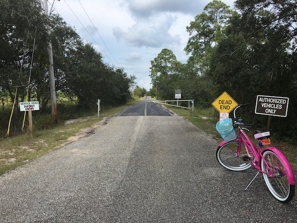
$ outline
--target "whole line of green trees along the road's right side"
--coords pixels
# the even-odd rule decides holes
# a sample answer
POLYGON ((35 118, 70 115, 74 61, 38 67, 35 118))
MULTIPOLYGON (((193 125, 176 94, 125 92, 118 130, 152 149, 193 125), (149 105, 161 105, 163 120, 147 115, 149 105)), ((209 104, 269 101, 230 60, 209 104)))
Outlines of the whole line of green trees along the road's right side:
POLYGON ((183 98, 209 108, 224 91, 239 104, 250 103, 245 115, 259 125, 266 115, 254 115, 257 95, 289 97, 286 118, 273 117, 280 137, 297 138, 297 2, 296 0, 236 0, 235 9, 222 1, 208 3, 187 26, 189 54, 182 64, 169 49, 151 61, 152 89, 157 97, 183 98))

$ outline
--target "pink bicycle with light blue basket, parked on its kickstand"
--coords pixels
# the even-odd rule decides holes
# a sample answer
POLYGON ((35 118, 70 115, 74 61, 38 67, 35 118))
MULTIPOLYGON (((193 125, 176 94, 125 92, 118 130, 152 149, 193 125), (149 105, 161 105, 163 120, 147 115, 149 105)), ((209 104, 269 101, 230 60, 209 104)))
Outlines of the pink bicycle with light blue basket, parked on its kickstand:
MULTIPOLYGON (((248 104, 239 105, 234 109, 234 120, 226 118, 217 123, 217 130, 220 132, 224 141, 220 143, 216 158, 218 162, 225 168, 242 171, 249 167, 258 170, 255 177, 248 186, 261 172, 264 181, 271 194, 279 201, 287 203, 291 201, 295 193, 295 175, 288 160, 275 147, 266 147, 270 144, 270 132, 256 131, 254 138, 258 140, 258 148, 250 141, 244 126, 252 126, 244 123, 242 119, 236 118, 236 110, 245 107, 248 104), (238 128, 238 136, 236 136, 235 128, 238 128)), ((247 188, 245 190, 247 190, 247 188)))

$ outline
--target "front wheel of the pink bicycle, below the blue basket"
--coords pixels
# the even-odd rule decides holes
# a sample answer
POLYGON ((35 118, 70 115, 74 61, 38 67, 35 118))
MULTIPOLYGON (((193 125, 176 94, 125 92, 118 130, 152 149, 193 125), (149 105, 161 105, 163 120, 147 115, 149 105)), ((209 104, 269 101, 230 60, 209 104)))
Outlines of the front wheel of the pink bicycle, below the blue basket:
POLYGON ((233 171, 242 171, 251 167, 251 158, 247 155, 244 143, 241 143, 239 155, 236 156, 238 148, 239 141, 230 141, 222 146, 219 146, 216 151, 216 158, 218 162, 223 167, 233 171))

